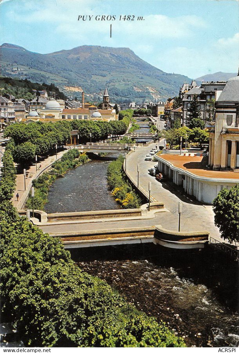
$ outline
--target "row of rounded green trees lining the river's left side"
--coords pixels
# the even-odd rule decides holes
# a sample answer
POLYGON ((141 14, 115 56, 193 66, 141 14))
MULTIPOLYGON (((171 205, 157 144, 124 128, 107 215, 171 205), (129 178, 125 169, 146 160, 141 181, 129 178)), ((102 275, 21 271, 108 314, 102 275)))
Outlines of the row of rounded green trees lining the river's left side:
POLYGON ((120 121, 61 120, 55 123, 40 121, 31 124, 16 123, 6 127, 4 136, 10 137, 7 150, 10 150, 14 161, 27 165, 34 161, 35 155, 46 156, 55 145, 64 145, 70 138, 71 130, 78 130, 80 143, 107 139, 108 136, 119 136, 126 132, 129 123, 129 112, 120 121), (90 137, 91 134, 91 137, 90 137))

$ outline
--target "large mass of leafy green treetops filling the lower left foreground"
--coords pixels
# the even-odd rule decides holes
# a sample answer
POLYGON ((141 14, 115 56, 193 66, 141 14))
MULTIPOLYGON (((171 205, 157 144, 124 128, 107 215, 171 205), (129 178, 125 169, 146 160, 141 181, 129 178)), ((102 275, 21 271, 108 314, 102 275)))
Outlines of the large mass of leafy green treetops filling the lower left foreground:
POLYGON ((165 323, 84 273, 59 238, 20 217, 11 202, 2 203, 0 226, 2 316, 25 345, 184 347, 165 323))

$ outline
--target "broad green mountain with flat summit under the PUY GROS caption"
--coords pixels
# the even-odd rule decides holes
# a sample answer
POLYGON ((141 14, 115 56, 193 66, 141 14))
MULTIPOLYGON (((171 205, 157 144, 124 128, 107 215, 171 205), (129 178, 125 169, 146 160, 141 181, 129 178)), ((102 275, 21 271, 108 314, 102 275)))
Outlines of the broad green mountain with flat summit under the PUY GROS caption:
POLYGON ((165 100, 178 95, 190 78, 166 73, 139 58, 129 48, 80 46, 49 54, 23 47, 0 46, 2 76, 53 83, 67 95, 101 100, 107 86, 111 101, 165 100), (121 99, 122 98, 122 99, 121 99))

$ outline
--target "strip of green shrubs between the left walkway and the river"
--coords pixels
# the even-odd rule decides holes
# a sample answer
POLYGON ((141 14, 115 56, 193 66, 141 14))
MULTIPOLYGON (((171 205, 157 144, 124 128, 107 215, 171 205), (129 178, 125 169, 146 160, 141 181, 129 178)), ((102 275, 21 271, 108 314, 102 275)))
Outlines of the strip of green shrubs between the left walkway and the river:
MULTIPOLYGON (((35 188, 35 209, 44 209, 44 204, 48 201, 49 187, 56 178, 62 177, 67 170, 74 169, 88 161, 89 158, 85 153, 80 153, 77 149, 69 150, 61 157, 60 161, 56 161, 52 164, 52 168, 49 172, 43 173, 39 178, 33 180, 32 185, 35 188)), ((26 208, 32 208, 32 198, 30 196, 26 201, 26 208)))

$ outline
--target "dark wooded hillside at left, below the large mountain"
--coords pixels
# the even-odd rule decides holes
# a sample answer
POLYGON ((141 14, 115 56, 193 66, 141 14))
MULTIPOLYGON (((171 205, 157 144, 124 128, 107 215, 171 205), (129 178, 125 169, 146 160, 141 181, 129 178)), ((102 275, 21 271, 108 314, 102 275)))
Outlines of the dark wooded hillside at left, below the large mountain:
POLYGON ((10 77, 0 77, 0 95, 12 94, 16 99, 25 98, 31 100, 34 98, 32 90, 43 91, 46 90, 48 95, 50 92, 54 92, 55 96, 60 99, 65 99, 66 96, 62 93, 58 87, 53 83, 33 83, 28 79, 19 80, 10 77))

